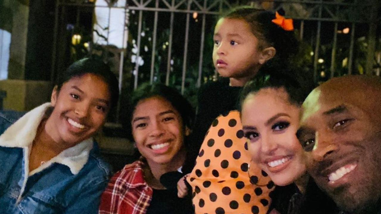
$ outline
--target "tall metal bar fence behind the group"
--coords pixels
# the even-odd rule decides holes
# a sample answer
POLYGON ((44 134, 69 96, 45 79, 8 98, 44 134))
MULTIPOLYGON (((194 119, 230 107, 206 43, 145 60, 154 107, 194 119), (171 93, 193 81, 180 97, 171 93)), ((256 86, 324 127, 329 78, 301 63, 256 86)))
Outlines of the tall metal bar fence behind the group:
POLYGON ((197 89, 213 78, 213 25, 219 14, 238 4, 273 11, 283 8, 286 16, 294 19, 301 40, 311 49, 307 54, 315 81, 344 73, 379 75, 377 0, 103 0, 103 5, 100 1, 56 1, 52 81, 57 71, 70 62, 68 51, 86 55, 110 46, 110 34, 118 31, 110 30, 110 24, 115 22, 111 17, 116 13, 112 11, 118 9, 124 14, 119 29, 122 45, 112 48, 116 50, 120 89, 129 80, 130 88, 143 81, 160 81, 189 95, 187 90, 197 89), (93 28, 97 8, 109 10, 108 26, 102 27, 106 35, 99 35, 104 40, 102 45, 94 42, 94 35, 98 37, 99 33, 93 28))

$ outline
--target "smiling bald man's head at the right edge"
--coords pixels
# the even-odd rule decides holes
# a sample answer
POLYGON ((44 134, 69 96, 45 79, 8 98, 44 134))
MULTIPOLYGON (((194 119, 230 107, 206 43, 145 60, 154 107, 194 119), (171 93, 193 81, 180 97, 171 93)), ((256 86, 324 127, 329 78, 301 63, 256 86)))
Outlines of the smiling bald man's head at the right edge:
POLYGON ((381 213, 381 79, 333 78, 303 103, 307 170, 349 213, 381 213))

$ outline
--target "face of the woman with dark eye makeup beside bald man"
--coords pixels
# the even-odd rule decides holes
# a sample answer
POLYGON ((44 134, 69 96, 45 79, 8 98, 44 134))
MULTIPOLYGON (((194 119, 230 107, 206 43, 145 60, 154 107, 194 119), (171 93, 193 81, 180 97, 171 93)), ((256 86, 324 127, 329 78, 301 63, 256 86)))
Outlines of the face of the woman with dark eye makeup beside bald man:
POLYGON ((306 171, 296 138, 299 107, 287 92, 266 88, 249 94, 242 105, 242 125, 252 159, 276 185, 288 185, 306 171))

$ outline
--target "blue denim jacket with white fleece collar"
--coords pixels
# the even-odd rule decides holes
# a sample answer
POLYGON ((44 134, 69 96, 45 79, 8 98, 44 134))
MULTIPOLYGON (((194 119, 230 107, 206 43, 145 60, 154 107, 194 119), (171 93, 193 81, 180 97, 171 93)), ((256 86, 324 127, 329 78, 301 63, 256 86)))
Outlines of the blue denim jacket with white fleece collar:
POLYGON ((0 213, 97 213, 109 167, 93 139, 62 151, 29 172, 29 152, 50 104, 26 113, 0 113, 0 213), (17 121, 16 121, 17 120, 17 121))

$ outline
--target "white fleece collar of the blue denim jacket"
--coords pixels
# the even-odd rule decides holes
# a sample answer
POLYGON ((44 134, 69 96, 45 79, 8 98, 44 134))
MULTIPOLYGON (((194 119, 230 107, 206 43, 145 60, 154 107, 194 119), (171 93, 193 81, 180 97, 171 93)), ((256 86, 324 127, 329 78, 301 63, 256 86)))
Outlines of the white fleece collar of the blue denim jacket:
MULTIPOLYGON (((18 121, 13 123, 0 136, 0 146, 29 150, 28 148, 32 145, 32 142, 36 136, 38 125, 40 125, 40 122, 49 107, 51 107, 50 103, 40 105, 30 112, 27 112, 18 121)), ((92 148, 93 139, 86 139, 85 141, 62 151, 56 157, 43 164, 42 167, 45 165, 43 168, 46 168, 52 163, 60 163, 68 166, 72 174, 78 174, 78 172, 87 163, 92 148)), ((40 170, 42 169, 39 167, 34 171, 37 172, 40 170)), ((30 173, 34 174, 34 171, 30 173)))

